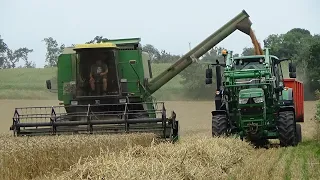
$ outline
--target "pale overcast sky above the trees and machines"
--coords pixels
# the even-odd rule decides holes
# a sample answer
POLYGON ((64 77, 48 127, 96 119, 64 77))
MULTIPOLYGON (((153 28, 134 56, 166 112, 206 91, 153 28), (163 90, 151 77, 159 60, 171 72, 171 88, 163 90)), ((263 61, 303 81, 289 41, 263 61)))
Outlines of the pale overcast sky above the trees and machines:
MULTIPOLYGON (((43 67, 45 37, 66 45, 96 35, 140 37, 142 44, 185 54, 189 42, 196 46, 243 9, 261 45, 269 34, 295 27, 320 34, 319 8, 319 0, 0 0, 0 35, 11 49, 33 49, 30 60, 43 67)), ((241 53, 251 40, 237 31, 218 46, 241 53)))

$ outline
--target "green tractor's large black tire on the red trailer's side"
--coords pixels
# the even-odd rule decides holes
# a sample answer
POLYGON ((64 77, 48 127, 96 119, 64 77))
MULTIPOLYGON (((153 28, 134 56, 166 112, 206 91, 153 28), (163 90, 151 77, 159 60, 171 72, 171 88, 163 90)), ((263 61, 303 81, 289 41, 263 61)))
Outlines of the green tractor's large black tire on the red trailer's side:
POLYGON ((292 111, 279 113, 277 128, 281 147, 296 146, 296 122, 292 111))

